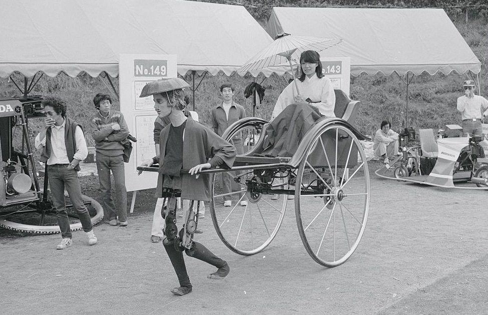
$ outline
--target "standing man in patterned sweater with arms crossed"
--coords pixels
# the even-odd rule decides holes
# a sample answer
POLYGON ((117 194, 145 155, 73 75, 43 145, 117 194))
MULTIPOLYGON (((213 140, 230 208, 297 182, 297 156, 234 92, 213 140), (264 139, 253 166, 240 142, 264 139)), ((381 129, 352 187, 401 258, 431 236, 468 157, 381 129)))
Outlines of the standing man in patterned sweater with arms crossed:
POLYGON ((102 190, 104 217, 112 226, 127 226, 127 189, 125 186, 124 146, 121 141, 129 128, 121 112, 111 110, 112 99, 99 93, 93 98, 98 114, 92 118, 92 135, 97 152, 97 171, 102 190), (117 208, 111 194, 110 170, 114 174, 117 208), (118 217, 118 218, 117 218, 118 217))

